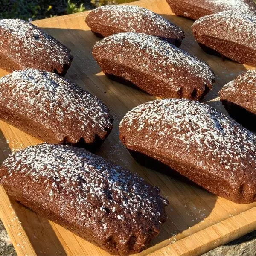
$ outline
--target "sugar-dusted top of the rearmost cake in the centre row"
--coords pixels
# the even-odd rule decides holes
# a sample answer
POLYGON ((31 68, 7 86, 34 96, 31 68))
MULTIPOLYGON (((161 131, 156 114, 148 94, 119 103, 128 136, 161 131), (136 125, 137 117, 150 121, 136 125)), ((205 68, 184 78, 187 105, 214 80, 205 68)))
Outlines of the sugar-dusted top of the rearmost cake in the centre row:
POLYGON ((98 20, 104 20, 109 26, 118 26, 123 32, 136 32, 140 30, 145 34, 171 32, 179 37, 184 36, 183 31, 175 24, 150 10, 134 5, 100 6, 92 11, 98 20))

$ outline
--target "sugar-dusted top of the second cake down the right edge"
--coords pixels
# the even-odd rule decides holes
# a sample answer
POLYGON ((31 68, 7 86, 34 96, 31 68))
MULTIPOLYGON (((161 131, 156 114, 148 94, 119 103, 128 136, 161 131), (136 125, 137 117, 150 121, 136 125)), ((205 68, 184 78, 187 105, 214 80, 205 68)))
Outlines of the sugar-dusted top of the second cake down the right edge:
POLYGON ((225 11, 207 15, 196 20, 192 28, 200 35, 198 26, 204 27, 207 22, 207 29, 202 29, 205 35, 242 44, 256 49, 256 16, 249 13, 225 11), (220 29, 221 28, 221 29, 220 29))

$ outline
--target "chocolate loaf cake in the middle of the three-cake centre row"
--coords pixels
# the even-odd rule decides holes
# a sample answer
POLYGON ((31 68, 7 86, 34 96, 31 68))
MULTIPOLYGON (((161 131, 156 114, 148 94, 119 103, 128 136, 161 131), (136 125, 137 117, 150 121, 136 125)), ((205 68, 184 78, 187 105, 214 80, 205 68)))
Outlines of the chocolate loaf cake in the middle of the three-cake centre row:
POLYGON ((215 81, 204 61, 143 33, 104 38, 93 47, 93 56, 106 75, 154 96, 201 99, 215 81))

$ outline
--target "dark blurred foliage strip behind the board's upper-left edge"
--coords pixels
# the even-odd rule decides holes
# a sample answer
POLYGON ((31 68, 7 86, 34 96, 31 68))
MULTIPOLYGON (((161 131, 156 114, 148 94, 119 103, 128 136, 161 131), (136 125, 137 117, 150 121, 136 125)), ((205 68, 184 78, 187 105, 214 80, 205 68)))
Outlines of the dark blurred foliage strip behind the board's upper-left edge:
POLYGON ((0 0, 0 18, 38 20, 134 0, 0 0))

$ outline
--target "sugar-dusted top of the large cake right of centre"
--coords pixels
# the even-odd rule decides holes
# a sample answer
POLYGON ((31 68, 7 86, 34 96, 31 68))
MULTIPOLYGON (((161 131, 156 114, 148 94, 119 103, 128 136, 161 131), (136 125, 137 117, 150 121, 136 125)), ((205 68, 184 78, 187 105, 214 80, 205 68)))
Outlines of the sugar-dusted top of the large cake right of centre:
POLYGON ((234 186, 243 172, 255 177, 256 136, 204 103, 186 99, 147 102, 125 115, 120 132, 123 129, 129 134, 125 137, 128 148, 139 140, 145 150, 156 148, 156 154, 189 161, 195 168, 231 180, 234 186))

